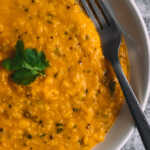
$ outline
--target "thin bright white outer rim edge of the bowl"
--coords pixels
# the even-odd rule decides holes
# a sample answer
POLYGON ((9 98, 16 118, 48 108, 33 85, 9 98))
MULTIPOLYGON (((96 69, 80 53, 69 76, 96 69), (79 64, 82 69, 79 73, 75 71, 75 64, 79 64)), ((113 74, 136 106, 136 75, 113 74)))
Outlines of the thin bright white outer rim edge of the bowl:
MULTIPOLYGON (((141 26, 141 33, 143 34, 143 38, 145 40, 145 46, 147 49, 147 54, 148 54, 148 63, 150 64, 150 39, 149 39, 149 34, 146 28, 146 24, 144 22, 144 19, 142 17, 142 14, 139 10, 139 8, 137 7, 135 1, 133 0, 127 0, 127 4, 128 7, 131 8, 133 10, 134 15, 136 16, 136 18, 139 21, 139 25, 141 26)), ((144 111, 146 108, 146 105, 148 103, 148 99, 150 97, 150 67, 147 68, 148 70, 148 81, 147 81, 147 87, 146 87, 146 91, 145 91, 145 96, 143 98, 143 103, 141 104, 142 110, 144 111)), ((118 145, 116 150, 120 150, 125 144, 126 142, 129 140, 129 138, 131 137, 133 131, 135 129, 135 126, 133 126, 129 131, 127 136, 124 138, 124 140, 122 142, 120 142, 120 144, 118 145)))

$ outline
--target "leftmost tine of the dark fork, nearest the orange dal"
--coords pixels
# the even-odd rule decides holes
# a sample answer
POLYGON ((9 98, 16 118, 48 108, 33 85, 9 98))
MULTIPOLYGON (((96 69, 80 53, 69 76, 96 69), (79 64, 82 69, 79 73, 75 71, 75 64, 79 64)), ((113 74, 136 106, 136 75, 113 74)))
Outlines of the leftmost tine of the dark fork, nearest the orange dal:
POLYGON ((91 8, 89 7, 89 4, 86 0, 80 0, 82 7, 84 8, 85 12, 88 14, 89 17, 91 17, 91 19, 93 20, 93 22, 95 23, 95 26, 97 28, 100 27, 99 23, 97 22, 97 19, 95 18, 94 13, 92 12, 91 8))

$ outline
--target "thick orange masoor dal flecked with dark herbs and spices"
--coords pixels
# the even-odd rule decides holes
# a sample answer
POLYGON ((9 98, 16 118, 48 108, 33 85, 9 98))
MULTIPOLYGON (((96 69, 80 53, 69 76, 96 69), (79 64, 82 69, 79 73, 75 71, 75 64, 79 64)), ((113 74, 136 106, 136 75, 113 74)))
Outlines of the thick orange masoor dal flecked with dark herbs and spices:
MULTIPOLYGON (((18 39, 43 50, 50 67, 28 86, 0 67, 0 150, 90 150, 102 142, 124 98, 79 4, 0 0, 0 61, 18 39)), ((119 55, 128 76, 124 42, 119 55)))

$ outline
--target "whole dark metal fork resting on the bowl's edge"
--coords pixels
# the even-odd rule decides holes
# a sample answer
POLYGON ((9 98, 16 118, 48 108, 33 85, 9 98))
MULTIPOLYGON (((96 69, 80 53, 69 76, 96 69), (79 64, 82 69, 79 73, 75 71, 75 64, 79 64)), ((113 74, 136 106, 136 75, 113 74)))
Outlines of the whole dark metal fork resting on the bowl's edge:
POLYGON ((118 52, 122 32, 106 7, 104 0, 80 0, 80 3, 93 20, 101 36, 103 55, 112 64, 145 149, 150 150, 150 125, 119 62, 118 52))

